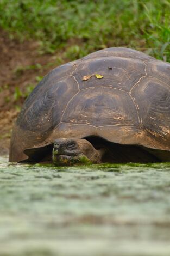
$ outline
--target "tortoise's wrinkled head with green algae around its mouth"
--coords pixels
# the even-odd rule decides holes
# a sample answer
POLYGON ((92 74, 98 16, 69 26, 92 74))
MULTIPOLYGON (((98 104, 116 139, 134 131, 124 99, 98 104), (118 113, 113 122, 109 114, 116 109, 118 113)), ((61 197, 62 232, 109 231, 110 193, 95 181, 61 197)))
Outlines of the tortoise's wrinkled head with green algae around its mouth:
POLYGON ((98 151, 86 139, 55 139, 53 162, 56 165, 96 162, 98 151))

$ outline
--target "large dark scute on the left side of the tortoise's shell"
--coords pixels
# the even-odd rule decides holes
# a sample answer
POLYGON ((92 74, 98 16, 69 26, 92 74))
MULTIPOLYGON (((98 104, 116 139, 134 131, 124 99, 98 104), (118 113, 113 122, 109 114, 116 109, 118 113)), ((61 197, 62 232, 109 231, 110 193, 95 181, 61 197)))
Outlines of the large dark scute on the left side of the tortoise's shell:
POLYGON ((77 83, 69 76, 64 81, 46 87, 36 101, 20 115, 17 124, 23 130, 43 133, 60 123, 67 102, 78 92, 77 83), (33 118, 34 117, 34 118, 33 118))

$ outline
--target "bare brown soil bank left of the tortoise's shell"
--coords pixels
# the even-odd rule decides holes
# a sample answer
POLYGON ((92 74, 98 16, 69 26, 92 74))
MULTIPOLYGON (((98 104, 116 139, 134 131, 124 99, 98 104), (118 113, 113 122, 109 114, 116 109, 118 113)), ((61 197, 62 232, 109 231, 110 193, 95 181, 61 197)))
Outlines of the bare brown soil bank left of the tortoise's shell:
POLYGON ((9 39, 0 30, 0 155, 9 152, 12 125, 25 100, 22 95, 16 99, 15 88, 22 94, 29 84, 37 84, 36 76, 44 76, 54 68, 61 54, 40 55, 38 49, 37 42, 9 39))

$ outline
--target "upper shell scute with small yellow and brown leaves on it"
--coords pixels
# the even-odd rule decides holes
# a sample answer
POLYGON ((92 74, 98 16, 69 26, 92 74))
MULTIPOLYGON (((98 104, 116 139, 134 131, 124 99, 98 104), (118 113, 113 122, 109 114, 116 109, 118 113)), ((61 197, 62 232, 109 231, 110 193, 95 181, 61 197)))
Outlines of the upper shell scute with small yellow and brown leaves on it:
POLYGON ((133 85, 146 76, 145 64, 141 60, 122 57, 100 57, 85 60, 73 72, 79 83, 79 88, 108 87, 118 88, 129 92, 133 85), (110 68, 110 69, 109 69, 110 68), (97 79, 95 74, 103 76, 97 79), (87 81, 82 81, 83 77, 91 75, 87 81))

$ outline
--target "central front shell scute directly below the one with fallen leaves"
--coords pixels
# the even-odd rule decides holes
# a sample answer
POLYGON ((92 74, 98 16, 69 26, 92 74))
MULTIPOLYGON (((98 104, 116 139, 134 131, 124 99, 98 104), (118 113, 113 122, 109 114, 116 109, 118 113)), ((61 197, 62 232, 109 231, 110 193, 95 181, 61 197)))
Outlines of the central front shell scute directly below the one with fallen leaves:
POLYGON ((112 88, 81 90, 68 104, 64 123, 92 126, 139 126, 138 115, 130 96, 112 88))

